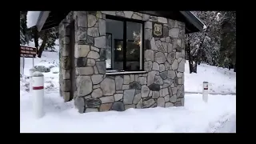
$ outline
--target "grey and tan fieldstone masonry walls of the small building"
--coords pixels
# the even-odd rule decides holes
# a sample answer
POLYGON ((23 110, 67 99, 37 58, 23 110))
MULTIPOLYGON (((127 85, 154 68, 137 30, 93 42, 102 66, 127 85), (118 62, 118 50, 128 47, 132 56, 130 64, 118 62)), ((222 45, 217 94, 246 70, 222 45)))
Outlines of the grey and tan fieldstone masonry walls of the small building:
POLYGON ((75 30, 76 90, 79 113, 184 106, 185 24, 133 11, 72 11, 59 25, 60 93, 70 98, 70 22, 75 30), (106 74, 106 14, 144 23, 145 74, 106 74), (163 38, 152 36, 163 23, 163 38))

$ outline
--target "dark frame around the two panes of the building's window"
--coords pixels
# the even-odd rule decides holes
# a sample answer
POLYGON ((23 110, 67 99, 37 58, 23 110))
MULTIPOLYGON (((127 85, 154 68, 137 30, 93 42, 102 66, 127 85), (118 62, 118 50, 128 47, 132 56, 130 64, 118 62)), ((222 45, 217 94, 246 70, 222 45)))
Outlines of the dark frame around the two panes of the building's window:
MULTIPOLYGON (((116 21, 121 21, 123 23, 123 40, 126 39, 127 41, 127 36, 126 36, 126 22, 135 22, 135 23, 140 23, 142 24, 142 70, 127 70, 127 66, 126 66, 126 41, 123 41, 123 70, 122 71, 144 71, 144 32, 145 32, 145 22, 142 20, 138 20, 138 19, 130 19, 130 18, 122 18, 122 17, 118 17, 118 16, 112 16, 112 15, 107 15, 106 14, 106 19, 112 19, 112 20, 116 20, 116 21)), ((113 43, 112 43, 113 45, 113 43)), ((111 48, 112 49, 112 48, 111 48)), ((112 54, 111 54, 112 57, 112 54)), ((140 60, 139 60, 140 63, 140 60)), ((113 65, 112 65, 112 58, 111 58, 111 68, 108 68, 106 70, 114 70, 113 69, 113 65)))

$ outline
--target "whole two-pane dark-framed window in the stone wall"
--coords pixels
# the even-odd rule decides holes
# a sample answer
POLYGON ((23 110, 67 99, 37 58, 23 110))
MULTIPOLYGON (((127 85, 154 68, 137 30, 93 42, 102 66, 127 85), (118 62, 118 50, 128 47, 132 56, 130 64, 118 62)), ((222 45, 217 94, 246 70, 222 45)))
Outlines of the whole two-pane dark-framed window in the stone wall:
POLYGON ((106 69, 143 70, 143 22, 106 16, 106 69))

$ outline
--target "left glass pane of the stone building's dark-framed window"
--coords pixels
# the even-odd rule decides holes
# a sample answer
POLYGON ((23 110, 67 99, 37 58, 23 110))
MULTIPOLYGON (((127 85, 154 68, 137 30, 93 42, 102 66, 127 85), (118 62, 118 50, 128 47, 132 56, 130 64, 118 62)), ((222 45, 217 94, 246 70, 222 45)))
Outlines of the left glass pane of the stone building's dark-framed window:
POLYGON ((106 38, 106 68, 123 70, 122 55, 119 55, 122 54, 123 49, 123 22, 106 19, 106 35, 108 36, 106 38), (117 55, 118 58, 116 58, 117 55))

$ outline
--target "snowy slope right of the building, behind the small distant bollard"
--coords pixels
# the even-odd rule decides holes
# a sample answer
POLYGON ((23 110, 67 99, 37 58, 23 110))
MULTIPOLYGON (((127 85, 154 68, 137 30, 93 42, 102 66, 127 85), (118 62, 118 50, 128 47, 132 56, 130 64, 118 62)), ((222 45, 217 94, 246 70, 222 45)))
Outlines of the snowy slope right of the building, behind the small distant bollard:
POLYGON ((201 92, 202 82, 209 82, 211 93, 235 93, 236 73, 234 70, 221 67, 201 64, 198 66, 198 73, 190 74, 189 62, 185 64, 185 91, 201 92))

